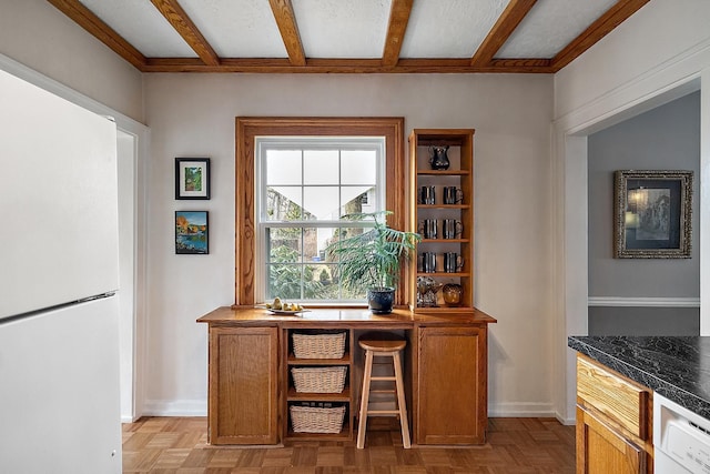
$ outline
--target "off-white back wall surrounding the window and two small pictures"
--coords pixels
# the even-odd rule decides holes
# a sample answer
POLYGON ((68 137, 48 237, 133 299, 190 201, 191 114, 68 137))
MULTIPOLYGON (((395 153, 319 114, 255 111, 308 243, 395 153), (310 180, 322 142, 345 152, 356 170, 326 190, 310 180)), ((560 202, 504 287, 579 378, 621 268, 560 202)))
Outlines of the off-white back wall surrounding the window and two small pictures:
POLYGON ((234 302, 234 118, 404 117, 475 128, 476 304, 490 326, 491 415, 550 414, 552 79, 515 74, 150 74, 146 410, 204 414, 206 327, 234 302), (174 158, 212 159, 212 200, 174 200, 174 158), (175 255, 175 210, 210 211, 210 254, 175 255))

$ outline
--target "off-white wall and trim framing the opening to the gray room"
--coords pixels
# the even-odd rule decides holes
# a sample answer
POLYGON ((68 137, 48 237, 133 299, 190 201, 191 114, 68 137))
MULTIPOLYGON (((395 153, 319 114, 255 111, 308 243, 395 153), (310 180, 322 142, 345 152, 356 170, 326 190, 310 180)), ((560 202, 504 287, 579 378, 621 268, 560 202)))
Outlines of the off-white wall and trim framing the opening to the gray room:
MULTIPOLYGON (((710 83, 710 2, 655 0, 555 77, 555 395, 560 417, 574 421, 574 352, 567 336, 587 327, 586 137, 710 83)), ((710 101, 701 99, 701 334, 710 333, 710 101), (704 330, 703 330, 704 325, 704 330)), ((693 210, 696 212, 696 210, 693 210)), ((610 236, 611 238, 611 236, 610 236)))

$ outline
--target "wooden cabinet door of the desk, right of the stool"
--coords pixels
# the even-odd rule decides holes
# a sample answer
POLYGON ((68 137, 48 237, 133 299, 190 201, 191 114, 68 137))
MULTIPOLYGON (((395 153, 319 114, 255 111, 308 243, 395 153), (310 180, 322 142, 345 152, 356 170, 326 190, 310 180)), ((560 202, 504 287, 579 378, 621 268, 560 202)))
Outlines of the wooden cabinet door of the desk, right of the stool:
POLYGON ((485 325, 418 327, 415 443, 486 442, 486 339, 485 325))

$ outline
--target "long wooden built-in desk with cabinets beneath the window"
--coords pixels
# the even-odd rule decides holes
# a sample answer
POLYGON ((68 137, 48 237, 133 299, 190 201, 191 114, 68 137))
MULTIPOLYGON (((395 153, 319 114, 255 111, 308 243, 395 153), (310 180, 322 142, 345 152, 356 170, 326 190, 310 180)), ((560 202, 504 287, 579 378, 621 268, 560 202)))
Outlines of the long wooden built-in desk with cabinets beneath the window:
POLYGON ((395 310, 317 309, 301 316, 272 315, 254 307, 219 307, 197 320, 209 325, 209 442, 280 444, 295 440, 353 440, 361 389, 357 337, 393 331, 407 339, 405 383, 413 444, 483 444, 487 425, 488 324, 473 310, 422 314, 395 310), (344 332, 337 360, 295 359, 294 332, 344 332), (293 366, 347 366, 339 394, 303 394, 293 389, 293 366), (339 433, 291 430, 290 406, 305 401, 344 405, 339 433))

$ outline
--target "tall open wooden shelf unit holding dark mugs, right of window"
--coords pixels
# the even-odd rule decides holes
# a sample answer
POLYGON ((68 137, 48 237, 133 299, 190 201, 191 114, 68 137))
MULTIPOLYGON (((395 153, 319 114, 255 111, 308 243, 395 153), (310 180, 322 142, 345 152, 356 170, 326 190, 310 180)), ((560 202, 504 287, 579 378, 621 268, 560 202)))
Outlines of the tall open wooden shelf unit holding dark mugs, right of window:
POLYGON ((410 272, 412 304, 415 311, 470 311, 474 305, 474 130, 415 129, 409 135, 409 160, 410 222, 423 236, 416 252, 417 271, 410 272), (436 147, 446 149, 447 169, 433 169, 430 155, 436 147), (432 190, 434 199, 427 200, 425 194, 430 195, 432 190), (447 193, 452 199, 445 199, 447 193), (425 232, 432 228, 435 232, 425 232), (427 262, 432 254, 434 268, 427 262), (434 279, 439 284, 460 284, 460 301, 447 304, 442 291, 432 301, 430 294, 417 291, 419 276, 434 279))

